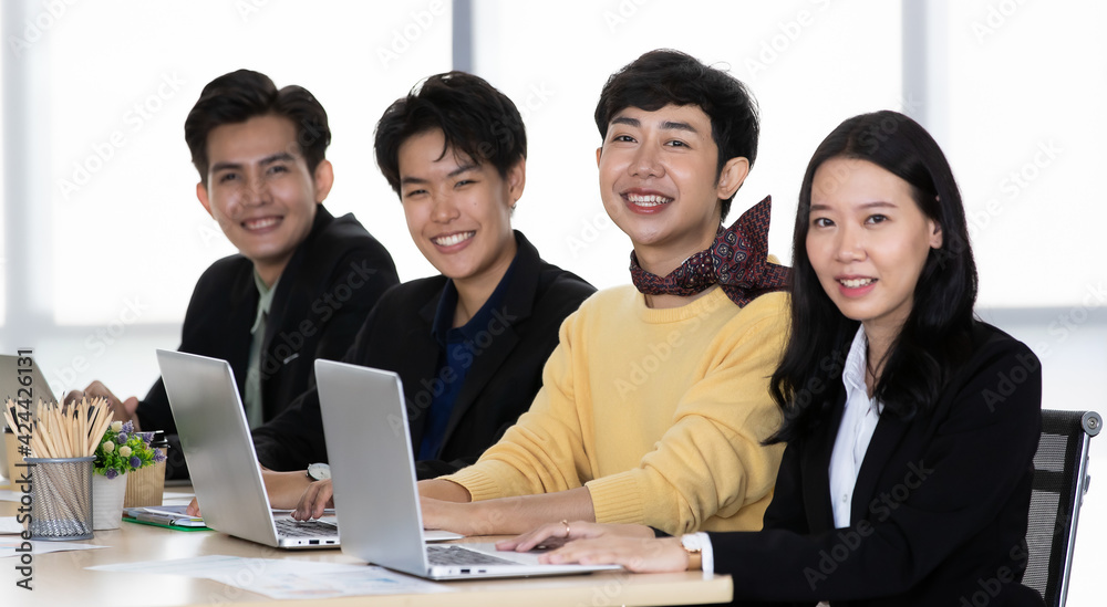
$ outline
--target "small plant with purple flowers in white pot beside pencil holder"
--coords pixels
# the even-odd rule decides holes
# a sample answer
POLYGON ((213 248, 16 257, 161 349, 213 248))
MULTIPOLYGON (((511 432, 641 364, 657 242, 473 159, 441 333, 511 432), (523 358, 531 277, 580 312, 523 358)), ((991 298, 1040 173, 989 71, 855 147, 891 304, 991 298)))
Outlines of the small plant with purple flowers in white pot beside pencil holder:
POLYGON ((154 432, 135 432, 134 423, 113 421, 96 447, 92 478, 92 527, 118 528, 123 520, 123 499, 127 472, 165 460, 165 454, 149 446, 154 432))

